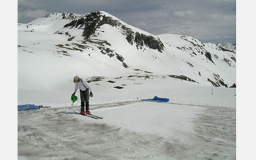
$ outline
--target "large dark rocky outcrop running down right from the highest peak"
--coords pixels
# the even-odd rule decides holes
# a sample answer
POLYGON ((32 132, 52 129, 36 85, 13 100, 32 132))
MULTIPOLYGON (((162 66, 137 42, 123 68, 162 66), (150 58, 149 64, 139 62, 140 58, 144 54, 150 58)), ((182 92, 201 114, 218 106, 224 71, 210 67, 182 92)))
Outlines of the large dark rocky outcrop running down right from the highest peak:
POLYGON ((72 20, 71 23, 64 25, 64 28, 82 28, 84 39, 89 39, 91 36, 95 36, 95 32, 102 25, 111 25, 116 28, 120 28, 121 32, 127 36, 129 44, 136 45, 137 49, 143 49, 148 47, 150 49, 157 49, 162 52, 165 48, 160 39, 156 39, 154 36, 148 36, 138 31, 132 31, 131 28, 124 25, 119 20, 113 20, 112 17, 104 15, 102 12, 91 12, 89 15, 81 17, 78 20, 72 20))

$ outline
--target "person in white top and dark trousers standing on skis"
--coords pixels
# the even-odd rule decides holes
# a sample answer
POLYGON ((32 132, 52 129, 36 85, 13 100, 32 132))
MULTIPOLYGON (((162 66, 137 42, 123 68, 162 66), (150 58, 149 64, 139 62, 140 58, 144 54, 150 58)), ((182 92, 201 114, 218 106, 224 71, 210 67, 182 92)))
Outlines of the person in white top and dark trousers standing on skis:
MULTIPOLYGON (((80 99, 81 99, 81 111, 82 114, 89 114, 91 113, 89 111, 89 97, 92 97, 93 94, 91 92, 91 87, 89 87, 89 84, 87 81, 84 81, 83 79, 79 78, 79 76, 74 76, 75 83, 75 92, 77 92, 78 88, 80 89, 80 99), (86 102, 86 111, 84 111, 84 102, 86 102)), ((75 92, 72 95, 75 95, 75 92)))

